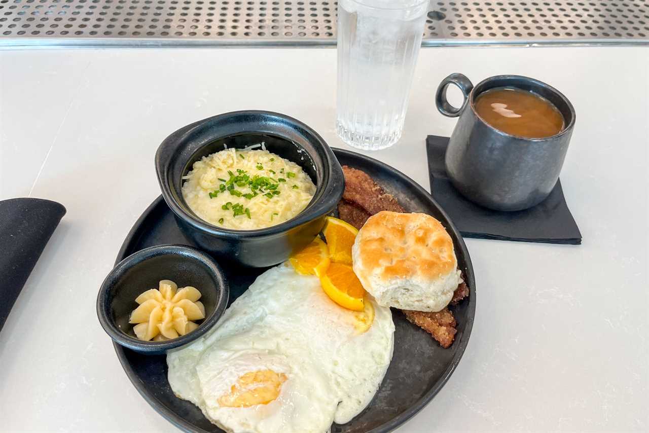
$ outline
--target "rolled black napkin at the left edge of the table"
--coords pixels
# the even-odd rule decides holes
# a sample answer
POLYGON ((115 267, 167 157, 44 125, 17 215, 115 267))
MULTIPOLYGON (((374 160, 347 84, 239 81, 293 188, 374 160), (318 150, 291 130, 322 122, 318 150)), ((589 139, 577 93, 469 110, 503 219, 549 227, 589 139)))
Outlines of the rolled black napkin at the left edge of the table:
POLYGON ((66 208, 43 199, 0 201, 0 330, 66 208))

